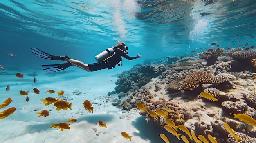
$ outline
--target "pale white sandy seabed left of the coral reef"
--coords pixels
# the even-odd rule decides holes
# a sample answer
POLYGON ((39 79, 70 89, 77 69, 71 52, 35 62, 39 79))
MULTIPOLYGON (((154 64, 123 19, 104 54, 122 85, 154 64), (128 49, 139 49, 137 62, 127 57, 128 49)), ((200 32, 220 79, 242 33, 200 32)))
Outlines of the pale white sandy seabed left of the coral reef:
MULTIPOLYGON (((0 103, 11 97, 13 102, 5 109, 16 107, 17 110, 9 117, 0 119, 1 143, 164 143, 159 134, 164 133, 170 141, 178 140, 168 134, 155 123, 146 123, 146 117, 141 117, 137 109, 130 112, 120 110, 112 106, 108 100, 117 95, 108 96, 107 93, 114 90, 117 77, 111 77, 118 70, 103 70, 88 73, 80 69, 70 68, 58 73, 47 73, 43 70, 20 69, 0 73, 0 103), (15 77, 16 73, 24 74, 24 78, 15 77), (34 77, 38 80, 33 83, 34 77), (110 79, 112 81, 110 81, 110 79), (11 89, 5 88, 10 84, 11 89), (35 94, 33 88, 38 88, 41 93, 35 94), (29 102, 26 96, 19 95, 20 90, 30 90, 29 102), (58 97, 57 93, 45 93, 45 90, 64 90, 65 97, 73 98, 72 110, 57 111, 56 107, 45 107, 40 99, 46 97, 58 97), (73 92, 80 91, 80 95, 73 92), (106 100, 108 99, 108 100, 106 100), (83 101, 89 100, 94 107, 94 113, 89 113, 83 107, 83 101), (36 108, 39 108, 38 111, 36 108), (36 112, 48 110, 47 117, 38 117, 36 112), (120 117, 123 117, 120 119, 120 117), (70 130, 57 130, 49 128, 51 123, 66 123, 67 119, 77 119, 76 123, 70 123, 70 130), (108 122, 107 128, 99 127, 99 120, 108 122), (95 132, 92 128, 97 128, 95 132), (132 140, 125 139, 121 132, 127 132, 133 136, 132 140), (103 134, 104 133, 104 134, 103 134), (106 134, 105 134, 106 133, 106 134), (98 134, 98 136, 96 135, 98 134)), ((2 112, 5 109, 0 109, 2 112)))

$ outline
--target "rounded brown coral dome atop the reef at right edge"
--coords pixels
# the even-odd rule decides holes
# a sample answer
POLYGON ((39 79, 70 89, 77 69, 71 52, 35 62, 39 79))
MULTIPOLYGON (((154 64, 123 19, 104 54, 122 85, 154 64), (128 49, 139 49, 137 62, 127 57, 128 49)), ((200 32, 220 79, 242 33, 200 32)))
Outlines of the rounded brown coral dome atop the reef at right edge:
POLYGON ((249 61, 256 58, 256 51, 255 50, 236 51, 232 53, 232 57, 237 60, 249 61))

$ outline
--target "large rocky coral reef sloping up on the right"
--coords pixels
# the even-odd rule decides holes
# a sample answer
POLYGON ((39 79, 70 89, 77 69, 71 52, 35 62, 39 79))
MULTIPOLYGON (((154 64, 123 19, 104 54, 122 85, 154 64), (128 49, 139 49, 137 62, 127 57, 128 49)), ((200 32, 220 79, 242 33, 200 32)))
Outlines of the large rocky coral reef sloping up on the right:
MULTIPOLYGON (((197 57, 184 57, 168 66, 136 65, 130 71, 123 72, 116 87, 120 90, 115 88, 115 91, 123 93, 117 93, 120 99, 115 99, 115 104, 122 108, 120 100, 125 99, 131 109, 137 108, 136 103, 139 102, 147 106, 148 111, 139 111, 147 122, 156 122, 164 127, 166 119, 169 119, 175 126, 184 125, 188 130, 193 130, 197 136, 208 139, 207 135, 210 134, 218 143, 234 142, 234 137, 224 128, 224 123, 227 123, 244 142, 255 142, 254 127, 230 114, 243 113, 256 119, 254 68, 247 66, 249 70, 237 70, 238 66, 243 65, 239 60, 244 60, 239 58, 252 58, 254 52, 250 51, 250 57, 249 52, 240 48, 225 51, 226 55, 239 57, 233 57, 232 61, 229 57, 220 57, 224 53, 221 48, 207 52, 199 55, 208 59, 207 62, 214 61, 209 62, 211 65, 197 57), (218 101, 203 98, 199 94, 203 91, 218 101), (193 95, 198 98, 193 98, 193 95), (161 110, 162 113, 159 113, 161 110), (156 117, 150 115, 149 111, 157 114, 156 117)), ((187 136, 184 132, 178 133, 187 136)))

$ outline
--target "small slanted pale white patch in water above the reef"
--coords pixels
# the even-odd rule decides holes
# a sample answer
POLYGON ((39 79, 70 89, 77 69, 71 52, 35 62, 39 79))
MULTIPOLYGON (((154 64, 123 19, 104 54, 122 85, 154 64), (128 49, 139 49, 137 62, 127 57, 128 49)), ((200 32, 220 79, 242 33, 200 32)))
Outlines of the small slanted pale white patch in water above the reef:
POLYGON ((195 27, 189 32, 189 40, 196 41, 199 37, 204 35, 204 31, 206 30, 206 26, 208 24, 208 20, 198 20, 198 23, 195 27))

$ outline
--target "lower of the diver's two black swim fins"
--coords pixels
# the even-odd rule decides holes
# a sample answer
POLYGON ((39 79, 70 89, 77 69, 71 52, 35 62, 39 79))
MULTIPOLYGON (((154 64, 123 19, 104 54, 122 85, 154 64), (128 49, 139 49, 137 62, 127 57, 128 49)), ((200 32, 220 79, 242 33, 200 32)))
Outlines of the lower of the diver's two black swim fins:
POLYGON ((47 72, 56 72, 60 70, 65 70, 66 68, 72 66, 71 63, 63 63, 63 64, 48 64, 48 65, 42 65, 43 70, 47 72))

